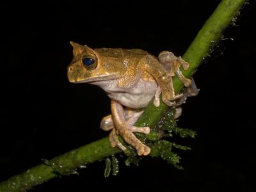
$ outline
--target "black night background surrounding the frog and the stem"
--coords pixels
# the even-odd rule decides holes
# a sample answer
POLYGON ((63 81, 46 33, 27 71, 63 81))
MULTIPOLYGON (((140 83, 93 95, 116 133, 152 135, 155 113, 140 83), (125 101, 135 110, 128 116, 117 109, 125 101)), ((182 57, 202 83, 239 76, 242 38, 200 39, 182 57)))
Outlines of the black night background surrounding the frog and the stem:
MULTIPOLYGON (((180 56, 219 2, 2 4, 0 181, 108 135, 99 129, 110 113, 106 94, 68 83, 70 40, 180 56)), ((148 157, 127 167, 120 158, 117 176, 105 179, 101 161, 33 191, 253 191, 255 13, 251 1, 194 76, 200 94, 184 104, 179 126, 198 136, 177 141, 193 150, 175 151, 185 170, 148 157)))

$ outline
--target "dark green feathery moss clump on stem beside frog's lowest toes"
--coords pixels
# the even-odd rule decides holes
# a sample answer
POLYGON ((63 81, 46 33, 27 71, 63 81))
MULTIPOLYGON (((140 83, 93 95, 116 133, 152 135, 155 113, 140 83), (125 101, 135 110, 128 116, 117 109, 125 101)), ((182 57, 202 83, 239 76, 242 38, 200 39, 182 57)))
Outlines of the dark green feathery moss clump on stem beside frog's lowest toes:
MULTIPOLYGON (((164 113, 163 117, 159 120, 159 123, 151 129, 150 134, 145 135, 136 133, 136 136, 145 143, 145 145, 148 145, 151 148, 151 157, 161 157, 164 161, 173 164, 176 168, 183 169, 182 166, 179 165, 181 157, 173 152, 173 148, 178 148, 180 150, 191 150, 191 148, 173 143, 172 138, 186 138, 188 136, 195 138, 196 132, 190 129, 177 127, 177 122, 174 117, 175 108, 170 108, 164 113), (162 132, 163 137, 159 137, 159 132, 162 132), (172 132, 174 132, 175 135, 173 135, 172 132), (170 138, 170 136, 172 136, 172 138, 170 138)), ((131 166, 131 164, 138 165, 142 157, 137 155, 136 150, 131 147, 131 145, 128 145, 127 148, 129 149, 129 156, 125 161, 125 164, 127 166, 131 166)))

